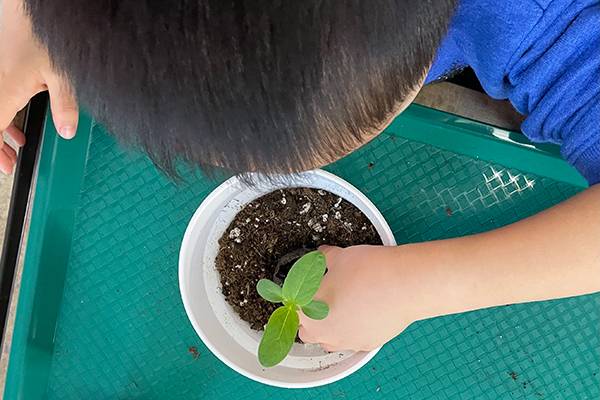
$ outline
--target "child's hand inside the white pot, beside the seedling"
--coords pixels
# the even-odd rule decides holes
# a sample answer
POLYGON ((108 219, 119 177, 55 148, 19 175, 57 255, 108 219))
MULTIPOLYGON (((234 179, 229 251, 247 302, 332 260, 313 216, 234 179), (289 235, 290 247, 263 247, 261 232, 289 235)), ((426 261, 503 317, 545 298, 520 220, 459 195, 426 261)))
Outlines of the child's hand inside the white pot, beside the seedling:
POLYGON ((300 339, 321 343, 328 351, 373 350, 413 322, 411 291, 405 287, 411 279, 401 279, 403 268, 388 262, 397 250, 322 247, 327 274, 315 298, 325 301, 330 311, 321 321, 301 315, 300 339))

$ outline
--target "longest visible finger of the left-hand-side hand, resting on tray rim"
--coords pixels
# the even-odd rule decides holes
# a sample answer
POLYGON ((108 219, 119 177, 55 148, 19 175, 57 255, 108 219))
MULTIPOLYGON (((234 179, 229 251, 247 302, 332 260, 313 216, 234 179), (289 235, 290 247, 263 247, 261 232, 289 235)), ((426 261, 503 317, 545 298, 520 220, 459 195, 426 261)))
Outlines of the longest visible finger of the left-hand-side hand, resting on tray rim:
POLYGON ((72 139, 79 120, 79 107, 73 92, 66 82, 58 78, 48 82, 48 92, 56 130, 63 138, 72 139))

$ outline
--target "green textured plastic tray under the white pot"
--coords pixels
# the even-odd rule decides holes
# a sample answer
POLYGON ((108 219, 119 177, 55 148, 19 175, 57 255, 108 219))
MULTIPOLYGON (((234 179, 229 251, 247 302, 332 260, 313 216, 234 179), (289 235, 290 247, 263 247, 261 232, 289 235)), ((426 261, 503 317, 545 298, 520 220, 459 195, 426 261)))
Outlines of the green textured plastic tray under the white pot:
MULTIPOLYGON (((503 226, 586 186, 553 148, 421 106, 327 169, 399 243, 503 226)), ((174 183, 85 116, 70 142, 46 121, 5 399, 600 398, 599 295, 415 323, 320 388, 236 374, 197 337, 177 283, 188 220, 219 183, 193 170, 174 183)))

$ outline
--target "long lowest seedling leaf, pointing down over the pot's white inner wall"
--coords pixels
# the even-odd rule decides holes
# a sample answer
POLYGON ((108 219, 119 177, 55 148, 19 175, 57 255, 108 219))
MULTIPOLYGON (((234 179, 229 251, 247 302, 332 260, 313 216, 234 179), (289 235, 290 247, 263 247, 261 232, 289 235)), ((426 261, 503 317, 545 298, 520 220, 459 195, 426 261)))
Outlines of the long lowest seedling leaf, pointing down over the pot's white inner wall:
POLYGON ((293 306, 279 307, 271 314, 258 346, 258 361, 263 367, 273 367, 288 355, 299 324, 298 312, 293 306))

